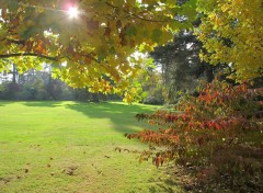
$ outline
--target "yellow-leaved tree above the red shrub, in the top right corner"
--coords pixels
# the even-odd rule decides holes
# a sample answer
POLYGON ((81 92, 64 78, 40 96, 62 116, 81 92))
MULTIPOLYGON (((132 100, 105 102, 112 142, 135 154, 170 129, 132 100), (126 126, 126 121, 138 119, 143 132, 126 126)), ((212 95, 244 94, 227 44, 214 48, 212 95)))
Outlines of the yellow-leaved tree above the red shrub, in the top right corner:
POLYGON ((196 34, 205 52, 201 57, 210 64, 227 64, 238 82, 263 75, 262 0, 198 0, 203 14, 196 34))

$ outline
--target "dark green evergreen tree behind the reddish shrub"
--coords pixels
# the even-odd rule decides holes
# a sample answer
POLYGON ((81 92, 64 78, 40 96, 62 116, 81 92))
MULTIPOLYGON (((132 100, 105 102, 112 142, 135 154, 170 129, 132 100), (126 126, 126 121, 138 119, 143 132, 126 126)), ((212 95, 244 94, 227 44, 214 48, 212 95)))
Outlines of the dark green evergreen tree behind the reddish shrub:
POLYGON ((207 82, 214 79, 216 67, 199 60, 201 47, 192 31, 180 31, 172 43, 150 53, 155 64, 162 69, 167 102, 174 103, 184 93, 193 94, 203 79, 207 82))

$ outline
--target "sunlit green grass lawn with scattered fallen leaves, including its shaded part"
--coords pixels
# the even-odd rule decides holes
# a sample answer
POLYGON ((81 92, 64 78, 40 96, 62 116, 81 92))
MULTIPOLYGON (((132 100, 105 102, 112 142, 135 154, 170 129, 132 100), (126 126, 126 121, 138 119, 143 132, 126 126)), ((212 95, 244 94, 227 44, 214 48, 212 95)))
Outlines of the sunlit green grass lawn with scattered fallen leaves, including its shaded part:
POLYGON ((181 192, 136 155, 125 133, 141 130, 134 115, 155 106, 124 103, 0 102, 1 193, 181 192))

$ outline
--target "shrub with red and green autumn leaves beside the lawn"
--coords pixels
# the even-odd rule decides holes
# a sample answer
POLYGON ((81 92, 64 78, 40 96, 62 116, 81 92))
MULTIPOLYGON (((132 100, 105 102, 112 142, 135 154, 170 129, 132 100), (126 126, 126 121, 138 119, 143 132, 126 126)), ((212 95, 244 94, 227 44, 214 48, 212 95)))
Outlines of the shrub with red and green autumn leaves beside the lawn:
POLYGON ((208 164, 222 149, 245 143, 247 133, 262 136, 262 125, 256 113, 262 89, 249 89, 248 84, 231 86, 214 81, 204 88, 198 98, 185 98, 173 111, 159 110, 152 114, 137 114, 138 121, 148 121, 159 129, 146 129, 127 137, 149 144, 149 151, 141 160, 152 157, 159 167, 175 160, 183 166, 208 164))

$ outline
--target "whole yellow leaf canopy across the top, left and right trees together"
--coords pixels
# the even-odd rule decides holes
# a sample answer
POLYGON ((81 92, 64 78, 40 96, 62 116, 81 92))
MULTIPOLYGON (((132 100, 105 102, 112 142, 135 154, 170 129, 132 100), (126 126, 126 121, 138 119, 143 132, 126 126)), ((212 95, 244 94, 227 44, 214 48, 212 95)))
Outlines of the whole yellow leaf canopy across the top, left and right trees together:
POLYGON ((175 2, 0 0, 0 70, 16 64, 25 71, 45 61, 72 87, 126 90, 132 101, 130 80, 142 61, 134 53, 167 44, 201 15, 196 34, 205 48, 202 58, 229 64, 239 81, 261 76, 262 0, 175 2))

